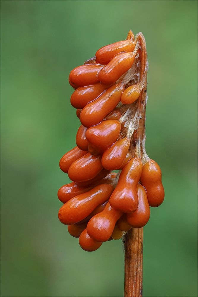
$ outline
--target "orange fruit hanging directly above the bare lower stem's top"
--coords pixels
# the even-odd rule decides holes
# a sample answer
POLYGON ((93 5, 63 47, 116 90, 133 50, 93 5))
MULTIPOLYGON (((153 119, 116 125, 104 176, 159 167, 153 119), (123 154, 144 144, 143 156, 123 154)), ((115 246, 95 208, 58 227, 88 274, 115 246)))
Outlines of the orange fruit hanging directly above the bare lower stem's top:
POLYGON ((138 207, 133 213, 127 214, 127 222, 133 228, 142 228, 148 223, 150 217, 150 207, 148 204, 148 199, 146 191, 142 185, 137 185, 137 195, 138 195, 138 207))

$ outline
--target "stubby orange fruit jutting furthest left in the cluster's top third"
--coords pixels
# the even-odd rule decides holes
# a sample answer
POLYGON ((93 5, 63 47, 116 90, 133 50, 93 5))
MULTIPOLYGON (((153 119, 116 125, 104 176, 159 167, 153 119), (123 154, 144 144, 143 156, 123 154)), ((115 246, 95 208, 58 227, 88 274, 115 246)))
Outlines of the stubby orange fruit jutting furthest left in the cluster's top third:
POLYGON ((69 83, 71 86, 89 86, 99 82, 98 72, 103 66, 90 64, 81 65, 74 68, 69 74, 69 83))

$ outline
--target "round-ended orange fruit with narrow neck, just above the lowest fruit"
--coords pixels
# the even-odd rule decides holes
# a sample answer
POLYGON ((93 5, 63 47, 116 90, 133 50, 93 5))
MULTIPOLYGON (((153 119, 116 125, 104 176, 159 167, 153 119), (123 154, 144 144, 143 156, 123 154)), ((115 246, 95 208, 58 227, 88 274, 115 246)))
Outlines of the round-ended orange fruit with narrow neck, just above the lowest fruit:
POLYGON ((90 219, 87 224, 87 233, 96 241, 107 241, 111 237, 115 224, 122 214, 121 211, 113 209, 108 202, 102 212, 90 219))

